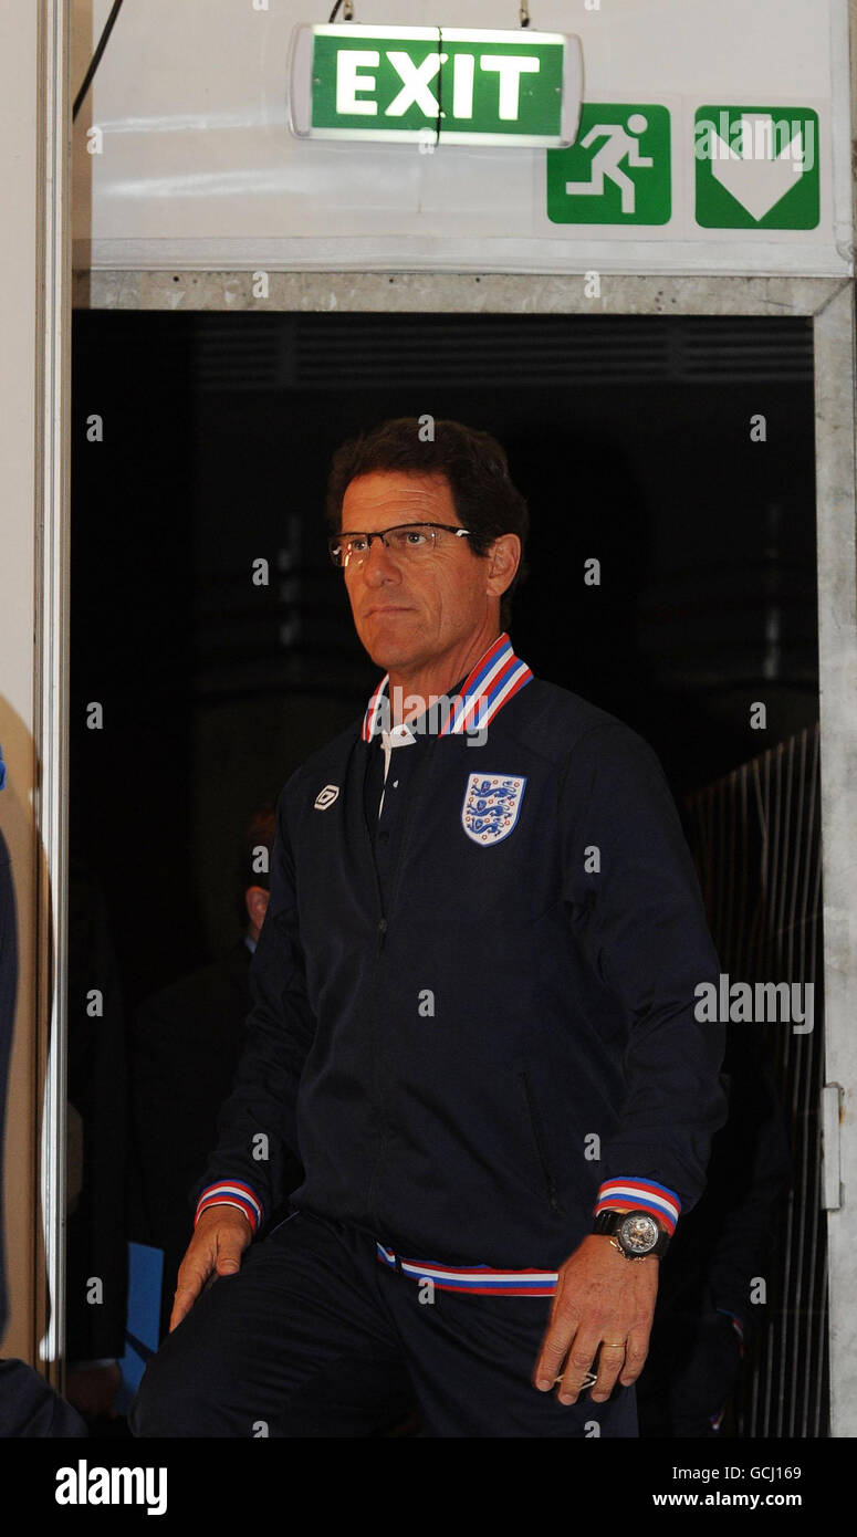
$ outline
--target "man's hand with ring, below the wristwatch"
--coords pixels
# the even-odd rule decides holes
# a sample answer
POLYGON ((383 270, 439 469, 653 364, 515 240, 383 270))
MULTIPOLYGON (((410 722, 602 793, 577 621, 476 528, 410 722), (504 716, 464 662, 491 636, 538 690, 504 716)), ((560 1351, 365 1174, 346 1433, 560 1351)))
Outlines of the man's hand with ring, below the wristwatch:
POLYGON ((654 1254, 625 1259, 602 1233, 584 1239, 559 1270, 536 1388, 548 1393, 562 1377, 559 1402, 576 1403, 587 1373, 596 1371, 591 1396, 604 1403, 616 1380, 636 1382, 648 1354, 659 1263, 654 1254))

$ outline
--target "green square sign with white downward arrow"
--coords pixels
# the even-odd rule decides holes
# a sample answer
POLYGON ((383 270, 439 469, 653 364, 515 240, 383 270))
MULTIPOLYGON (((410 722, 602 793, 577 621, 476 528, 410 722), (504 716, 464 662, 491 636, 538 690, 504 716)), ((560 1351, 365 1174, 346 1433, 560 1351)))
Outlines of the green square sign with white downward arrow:
POLYGON ((792 106, 700 106, 696 221, 705 229, 816 229, 819 114, 792 106))

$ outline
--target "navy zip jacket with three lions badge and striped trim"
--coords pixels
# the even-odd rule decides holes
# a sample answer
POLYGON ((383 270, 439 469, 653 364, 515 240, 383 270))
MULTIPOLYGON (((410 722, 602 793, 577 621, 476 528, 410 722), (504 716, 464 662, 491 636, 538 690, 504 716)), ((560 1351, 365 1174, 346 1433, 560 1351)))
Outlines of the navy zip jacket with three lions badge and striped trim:
POLYGON ((694 1017, 719 962, 654 753, 504 633, 390 753, 378 818, 385 699, 280 796, 197 1214, 263 1233, 293 1150, 295 1207, 418 1260, 556 1270, 599 1207, 673 1228, 725 1119, 723 1033, 694 1017))

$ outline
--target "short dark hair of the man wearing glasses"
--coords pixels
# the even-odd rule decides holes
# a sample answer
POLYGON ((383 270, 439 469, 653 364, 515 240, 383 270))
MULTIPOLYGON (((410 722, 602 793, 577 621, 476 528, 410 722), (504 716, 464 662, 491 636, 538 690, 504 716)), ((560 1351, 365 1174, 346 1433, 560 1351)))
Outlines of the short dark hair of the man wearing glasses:
POLYGON ((341 529, 347 486, 358 475, 373 470, 444 475, 461 526, 472 530, 467 543, 475 555, 485 555, 501 533, 519 536, 521 564, 501 598, 501 624, 508 629, 511 595, 528 573, 524 550, 530 515, 524 496, 511 483, 505 450, 496 438, 461 421, 432 421, 430 417, 396 417, 372 432, 349 438, 336 449, 327 478, 324 512, 332 533, 341 529))

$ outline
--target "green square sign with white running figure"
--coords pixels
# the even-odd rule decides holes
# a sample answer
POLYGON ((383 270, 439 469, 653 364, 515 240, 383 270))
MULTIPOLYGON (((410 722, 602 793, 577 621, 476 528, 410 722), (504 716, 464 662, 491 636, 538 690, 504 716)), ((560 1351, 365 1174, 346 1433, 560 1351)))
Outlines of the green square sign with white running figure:
POLYGON ((670 112, 651 103, 587 101, 577 141, 547 152, 554 224, 667 224, 670 112))

